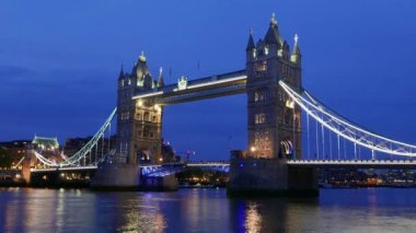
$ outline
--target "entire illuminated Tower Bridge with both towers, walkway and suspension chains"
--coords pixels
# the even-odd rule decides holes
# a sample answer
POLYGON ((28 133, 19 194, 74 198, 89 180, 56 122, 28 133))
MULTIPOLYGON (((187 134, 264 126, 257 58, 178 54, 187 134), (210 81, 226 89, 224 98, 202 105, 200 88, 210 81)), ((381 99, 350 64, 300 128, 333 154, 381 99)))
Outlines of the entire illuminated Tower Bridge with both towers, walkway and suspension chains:
MULTIPOLYGON (((149 180, 152 185, 154 180, 170 185, 173 174, 182 171, 184 164, 160 164, 163 108, 241 93, 247 96, 247 148, 232 151, 229 163, 217 164, 230 172, 231 194, 317 195, 319 167, 416 167, 413 160, 403 160, 416 156, 416 145, 353 124, 302 86, 298 36, 289 49, 274 16, 263 38, 255 43, 253 32, 250 33, 245 56, 245 69, 196 80, 182 77, 169 85, 164 84, 162 69, 153 79, 143 54, 131 72, 122 69, 117 81, 114 163, 92 164, 97 167, 93 185, 130 187, 147 185, 149 180)), ((114 114, 76 156, 59 164, 41 154, 38 159, 49 166, 79 165, 111 127, 114 114)))

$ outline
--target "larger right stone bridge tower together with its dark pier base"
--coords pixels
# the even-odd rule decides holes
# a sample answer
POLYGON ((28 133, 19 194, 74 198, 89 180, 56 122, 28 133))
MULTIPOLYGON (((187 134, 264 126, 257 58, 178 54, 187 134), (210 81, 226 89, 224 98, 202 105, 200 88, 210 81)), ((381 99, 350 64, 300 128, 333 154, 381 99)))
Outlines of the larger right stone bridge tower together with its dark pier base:
POLYGON ((231 154, 229 195, 316 196, 315 171, 287 164, 302 156, 301 109, 279 81, 302 89, 298 36, 290 51, 273 15, 263 39, 250 33, 245 51, 249 151, 231 154))

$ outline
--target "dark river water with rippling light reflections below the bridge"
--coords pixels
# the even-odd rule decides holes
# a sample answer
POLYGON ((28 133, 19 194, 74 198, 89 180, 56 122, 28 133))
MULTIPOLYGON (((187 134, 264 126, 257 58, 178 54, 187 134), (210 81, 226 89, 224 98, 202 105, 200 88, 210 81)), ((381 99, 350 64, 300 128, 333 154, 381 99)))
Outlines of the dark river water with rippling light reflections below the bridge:
POLYGON ((416 189, 229 199, 224 189, 0 189, 0 232, 416 232, 416 189))

